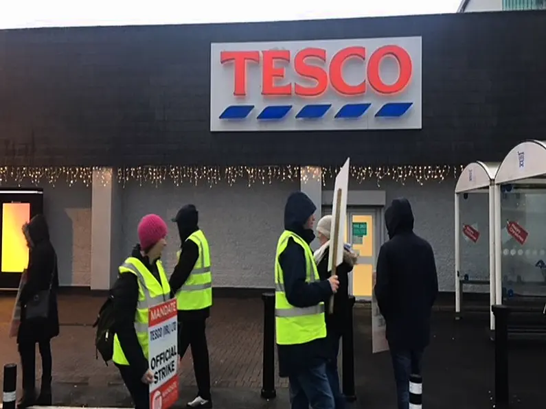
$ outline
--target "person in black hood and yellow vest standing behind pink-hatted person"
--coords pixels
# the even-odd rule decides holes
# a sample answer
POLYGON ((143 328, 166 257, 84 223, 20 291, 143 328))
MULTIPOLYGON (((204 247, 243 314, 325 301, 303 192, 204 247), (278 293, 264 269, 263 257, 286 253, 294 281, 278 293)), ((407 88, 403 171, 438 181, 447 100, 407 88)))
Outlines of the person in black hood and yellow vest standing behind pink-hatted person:
POLYGON ((172 294, 177 297, 179 353, 184 356, 187 347, 191 346, 194 360, 198 390, 187 407, 212 408, 209 349, 205 334, 205 322, 212 305, 212 274, 209 243, 198 227, 198 216, 194 205, 186 205, 172 219, 178 226, 181 247, 169 283, 172 294))

